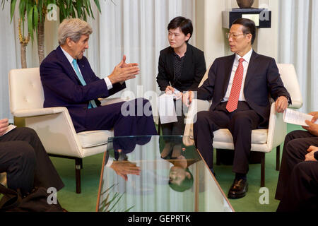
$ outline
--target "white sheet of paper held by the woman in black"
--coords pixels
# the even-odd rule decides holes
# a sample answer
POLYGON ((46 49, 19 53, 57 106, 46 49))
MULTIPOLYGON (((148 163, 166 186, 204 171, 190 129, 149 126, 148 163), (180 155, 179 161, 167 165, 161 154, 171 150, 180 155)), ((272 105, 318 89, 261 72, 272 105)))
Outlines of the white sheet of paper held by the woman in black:
POLYGON ((158 98, 158 109, 161 124, 167 124, 178 121, 175 113, 175 104, 173 95, 161 95, 158 98))

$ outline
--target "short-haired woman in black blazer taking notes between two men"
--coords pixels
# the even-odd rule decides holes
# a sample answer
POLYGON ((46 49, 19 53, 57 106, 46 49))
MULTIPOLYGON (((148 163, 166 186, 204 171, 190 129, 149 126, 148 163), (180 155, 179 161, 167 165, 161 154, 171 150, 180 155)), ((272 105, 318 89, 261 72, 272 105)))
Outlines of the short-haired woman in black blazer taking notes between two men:
MULTIPOLYGON (((163 135, 183 136, 184 114, 182 109, 179 109, 179 106, 182 106, 182 92, 198 89, 199 83, 206 73, 206 61, 204 52, 188 43, 193 32, 191 20, 184 17, 174 18, 170 21, 167 30, 170 47, 160 52, 157 83, 162 92, 175 94, 178 121, 163 124, 163 135)), ((165 142, 161 156, 167 157, 172 150, 172 157, 179 156, 182 138, 173 141, 165 138, 165 142)))

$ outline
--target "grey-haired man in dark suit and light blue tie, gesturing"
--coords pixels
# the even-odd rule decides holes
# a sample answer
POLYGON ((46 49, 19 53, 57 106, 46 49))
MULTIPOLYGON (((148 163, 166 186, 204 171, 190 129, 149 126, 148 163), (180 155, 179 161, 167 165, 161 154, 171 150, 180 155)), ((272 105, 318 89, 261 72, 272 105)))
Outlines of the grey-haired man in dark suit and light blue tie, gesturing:
POLYGON ((80 19, 66 19, 59 25, 60 45, 40 66, 44 107, 66 107, 76 132, 114 128, 114 136, 157 134, 147 100, 100 106, 98 98, 126 88, 125 81, 135 78, 139 68, 138 64, 126 64, 124 56, 110 76, 95 76, 88 59, 83 57, 92 32, 90 25, 80 19), (148 114, 140 114, 146 108, 148 114), (129 115, 124 116, 122 112, 127 111, 129 115))

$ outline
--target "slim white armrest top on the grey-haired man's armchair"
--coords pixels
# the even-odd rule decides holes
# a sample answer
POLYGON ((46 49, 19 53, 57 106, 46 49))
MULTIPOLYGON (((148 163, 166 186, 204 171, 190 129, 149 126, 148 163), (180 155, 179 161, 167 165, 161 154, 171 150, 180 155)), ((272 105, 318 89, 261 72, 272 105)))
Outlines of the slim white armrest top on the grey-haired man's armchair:
POLYGON ((22 109, 16 112, 12 112, 15 117, 25 118, 25 117, 37 117, 47 114, 59 114, 61 112, 67 112, 66 107, 49 107, 49 108, 39 108, 39 109, 22 109))

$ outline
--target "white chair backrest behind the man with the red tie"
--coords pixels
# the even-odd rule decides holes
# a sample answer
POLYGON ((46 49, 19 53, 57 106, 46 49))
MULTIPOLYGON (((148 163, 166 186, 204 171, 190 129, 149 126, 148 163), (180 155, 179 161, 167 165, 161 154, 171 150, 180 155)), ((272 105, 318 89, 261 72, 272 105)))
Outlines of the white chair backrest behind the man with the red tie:
MULTIPOLYGON (((212 66, 212 64, 211 64, 212 66)), ((208 71, 210 71, 211 66, 208 68, 204 77, 201 80, 201 85, 203 85, 204 81, 208 78, 208 71)), ((290 97, 292 99, 293 104, 290 105, 290 108, 300 109, 302 107, 302 93, 300 92, 300 85, 298 83, 297 74, 295 71, 295 67, 293 64, 277 64, 279 73, 281 73, 281 79, 284 83, 285 88, 290 93, 290 97)))

